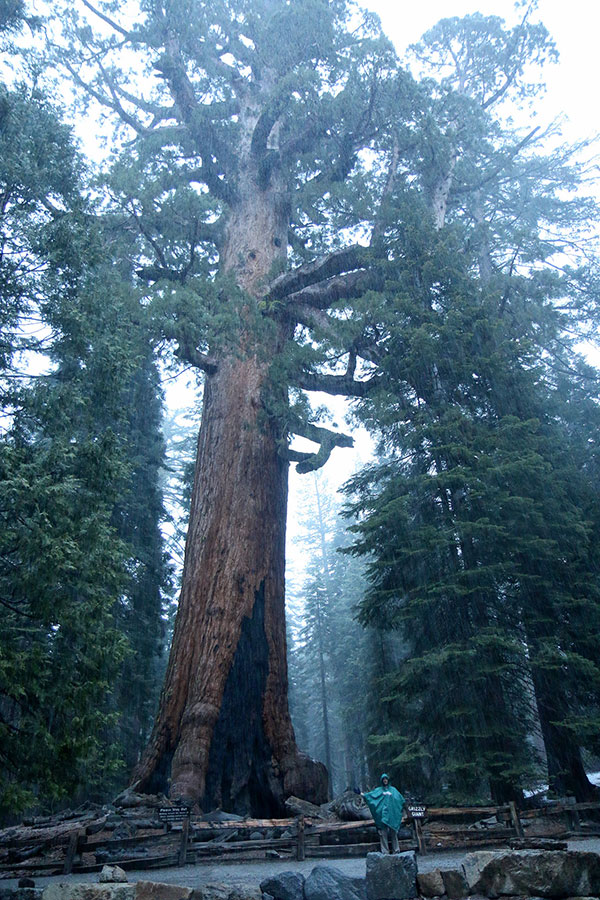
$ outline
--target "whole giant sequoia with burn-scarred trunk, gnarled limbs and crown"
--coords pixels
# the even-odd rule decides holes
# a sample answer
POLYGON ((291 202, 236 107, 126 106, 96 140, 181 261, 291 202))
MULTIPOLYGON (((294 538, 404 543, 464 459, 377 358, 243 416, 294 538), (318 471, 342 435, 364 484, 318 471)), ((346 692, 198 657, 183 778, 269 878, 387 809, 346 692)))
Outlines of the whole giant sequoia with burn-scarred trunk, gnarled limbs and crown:
POLYGON ((289 391, 365 391, 355 373, 371 323, 348 329, 335 310, 381 282, 352 229, 373 233, 409 80, 376 22, 345 2, 143 2, 122 20, 111 9, 64 11, 67 67, 123 126, 111 190, 139 235, 138 276, 163 335, 205 373, 179 611, 133 784, 170 779, 172 796, 274 812, 287 794, 326 790, 287 706, 289 460, 309 471, 351 443, 289 391), (321 376, 328 353, 342 368, 321 376), (292 454, 292 433, 317 451, 292 454))

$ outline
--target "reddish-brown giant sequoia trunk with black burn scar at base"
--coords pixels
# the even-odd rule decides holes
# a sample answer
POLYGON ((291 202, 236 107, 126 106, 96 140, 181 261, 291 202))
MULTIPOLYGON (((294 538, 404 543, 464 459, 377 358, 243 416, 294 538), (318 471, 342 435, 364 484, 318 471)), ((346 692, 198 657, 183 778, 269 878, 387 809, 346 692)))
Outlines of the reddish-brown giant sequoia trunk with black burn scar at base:
POLYGON ((327 773, 297 750, 287 702, 286 434, 265 401, 285 399, 270 366, 290 326, 261 322, 255 303, 285 254, 287 195, 261 185, 249 150, 242 171, 221 264, 248 305, 206 378, 173 645, 133 786, 271 816, 290 794, 323 802, 327 773))

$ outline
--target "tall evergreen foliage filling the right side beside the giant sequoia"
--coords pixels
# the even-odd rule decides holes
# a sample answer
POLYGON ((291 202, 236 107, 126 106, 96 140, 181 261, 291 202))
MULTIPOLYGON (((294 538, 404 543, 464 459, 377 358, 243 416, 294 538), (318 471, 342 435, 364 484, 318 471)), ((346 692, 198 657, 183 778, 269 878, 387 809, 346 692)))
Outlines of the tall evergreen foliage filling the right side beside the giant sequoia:
POLYGON ((531 93, 519 71, 549 49, 543 30, 517 33, 520 62, 504 55, 514 33, 479 16, 418 48, 443 76, 425 133, 443 152, 396 194, 381 391, 360 411, 383 458, 349 489, 355 552, 372 560, 362 619, 408 644, 374 740, 438 800, 518 798, 539 771, 538 729, 551 786, 593 793, 579 748, 598 725, 597 375, 570 334, 594 324, 583 235, 596 209, 575 193, 573 150, 544 153, 537 129, 493 115, 531 93))

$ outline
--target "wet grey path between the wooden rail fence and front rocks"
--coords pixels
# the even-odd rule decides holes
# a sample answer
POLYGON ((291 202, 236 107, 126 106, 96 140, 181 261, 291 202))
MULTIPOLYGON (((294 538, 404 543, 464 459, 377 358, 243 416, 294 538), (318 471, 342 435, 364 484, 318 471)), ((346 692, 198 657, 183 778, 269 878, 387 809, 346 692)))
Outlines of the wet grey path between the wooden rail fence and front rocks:
MULTIPOLYGON (((568 842, 569 850, 587 850, 594 853, 600 853, 600 838, 584 838, 581 840, 572 840, 568 842)), ((491 849, 491 848, 486 848, 491 849)), ((500 848, 499 848, 500 849, 500 848)), ((456 868, 466 854, 471 850, 444 850, 429 852, 426 856, 417 856, 419 872, 429 872, 432 869, 452 869, 456 868)), ((198 888, 205 884, 227 884, 232 887, 238 885, 258 886, 260 882, 269 875, 275 875, 278 872, 302 872, 308 875, 315 866, 333 866, 344 872, 345 875, 363 876, 366 871, 366 861, 360 859, 327 859, 316 860, 306 859, 303 862, 296 860, 257 860, 256 862, 248 862, 247 860, 238 863, 199 863, 194 866, 183 866, 182 868, 171 867, 168 869, 146 869, 136 872, 128 872, 127 877, 130 882, 134 881, 158 881, 164 884, 177 884, 182 887, 198 888)), ((52 875, 46 878, 36 878, 37 887, 45 887, 53 882, 64 882, 68 884, 76 884, 83 882, 97 882, 98 873, 90 873, 86 875, 52 875)), ((7 879, 1 882, 2 888, 16 887, 17 879, 7 879)))

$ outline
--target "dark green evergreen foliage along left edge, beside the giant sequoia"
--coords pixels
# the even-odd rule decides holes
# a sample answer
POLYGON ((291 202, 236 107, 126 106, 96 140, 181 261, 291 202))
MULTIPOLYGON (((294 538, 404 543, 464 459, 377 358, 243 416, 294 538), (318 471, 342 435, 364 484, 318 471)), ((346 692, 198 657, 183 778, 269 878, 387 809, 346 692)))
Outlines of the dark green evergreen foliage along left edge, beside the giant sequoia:
POLYGON ((39 90, 0 86, 0 158, 4 815, 101 797, 139 753, 167 569, 160 395, 126 243, 84 199, 39 90))

